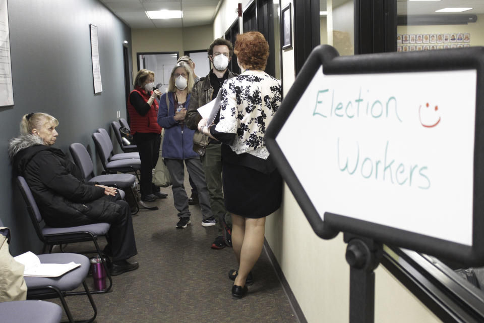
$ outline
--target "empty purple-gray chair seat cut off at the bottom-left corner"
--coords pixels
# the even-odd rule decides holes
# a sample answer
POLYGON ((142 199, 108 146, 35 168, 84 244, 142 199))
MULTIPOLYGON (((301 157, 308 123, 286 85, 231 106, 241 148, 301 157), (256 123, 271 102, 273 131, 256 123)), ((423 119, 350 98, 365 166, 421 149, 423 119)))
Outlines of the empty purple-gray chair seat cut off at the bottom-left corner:
POLYGON ((62 318, 61 306, 39 300, 0 303, 0 320, 15 323, 58 323, 62 318))

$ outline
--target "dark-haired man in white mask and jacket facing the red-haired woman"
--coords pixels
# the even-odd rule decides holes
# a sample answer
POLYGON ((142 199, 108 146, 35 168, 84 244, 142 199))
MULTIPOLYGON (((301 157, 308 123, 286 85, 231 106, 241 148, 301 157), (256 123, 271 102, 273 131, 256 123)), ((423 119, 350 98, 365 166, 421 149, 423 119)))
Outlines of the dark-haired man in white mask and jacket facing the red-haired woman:
MULTIPOLYGON (((192 96, 185 117, 185 124, 188 128, 198 132, 197 126, 202 116, 198 113, 197 109, 214 99, 218 90, 222 87, 223 82, 236 75, 227 68, 232 54, 232 43, 226 39, 217 38, 210 44, 208 58, 213 63, 213 69, 193 86, 192 96)), ((215 118, 215 124, 218 123, 219 116, 220 111, 215 118)), ((205 180, 207 181, 208 193, 210 195, 210 207, 212 208, 215 224, 218 229, 217 237, 212 243, 212 249, 222 249, 225 245, 232 246, 230 236, 232 221, 230 214, 225 210, 223 202, 220 141, 206 138, 207 136, 205 135, 203 136, 208 142, 206 147, 201 147, 199 142, 195 142, 194 140, 193 150, 202 156, 205 180)), ((194 136, 194 138, 196 137, 194 136)))

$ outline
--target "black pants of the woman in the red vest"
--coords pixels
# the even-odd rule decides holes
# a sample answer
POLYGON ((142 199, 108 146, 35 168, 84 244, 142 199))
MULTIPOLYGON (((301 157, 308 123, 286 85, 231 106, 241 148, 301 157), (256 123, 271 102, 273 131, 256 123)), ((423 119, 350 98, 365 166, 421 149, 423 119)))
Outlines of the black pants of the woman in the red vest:
POLYGON ((140 133, 133 135, 138 146, 141 159, 141 195, 148 195, 160 191, 160 188, 151 183, 153 169, 158 161, 161 137, 158 133, 140 133))

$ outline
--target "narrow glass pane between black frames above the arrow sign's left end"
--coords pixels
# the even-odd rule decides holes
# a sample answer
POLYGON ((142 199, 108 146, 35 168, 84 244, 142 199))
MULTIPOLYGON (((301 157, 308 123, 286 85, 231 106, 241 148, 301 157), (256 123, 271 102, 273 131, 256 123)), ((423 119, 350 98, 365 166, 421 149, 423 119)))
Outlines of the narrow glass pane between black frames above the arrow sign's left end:
POLYGON ((319 8, 321 44, 354 55, 353 0, 320 0, 319 8))

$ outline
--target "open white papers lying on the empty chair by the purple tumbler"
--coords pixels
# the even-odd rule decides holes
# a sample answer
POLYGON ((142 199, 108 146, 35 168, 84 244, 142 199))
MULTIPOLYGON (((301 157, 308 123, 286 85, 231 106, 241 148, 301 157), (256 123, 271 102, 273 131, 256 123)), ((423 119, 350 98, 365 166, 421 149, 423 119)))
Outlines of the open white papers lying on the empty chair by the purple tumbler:
POLYGON ((18 255, 14 259, 25 266, 24 277, 59 277, 81 265, 73 261, 69 263, 40 263, 39 257, 31 251, 18 255))

